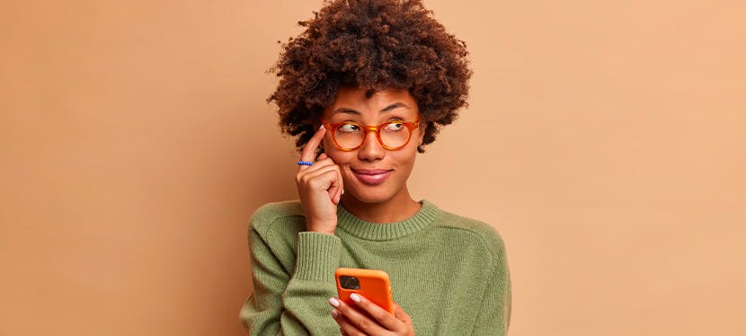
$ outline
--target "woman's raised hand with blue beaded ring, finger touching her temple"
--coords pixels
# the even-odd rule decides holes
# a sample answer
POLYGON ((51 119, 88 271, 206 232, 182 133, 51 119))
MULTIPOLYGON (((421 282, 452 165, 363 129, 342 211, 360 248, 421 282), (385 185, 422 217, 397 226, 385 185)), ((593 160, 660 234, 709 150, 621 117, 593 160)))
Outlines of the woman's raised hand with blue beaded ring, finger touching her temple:
MULTIPOLYGON (((316 148, 324 139, 326 128, 316 131, 301 152, 301 161, 314 161, 316 148)), ((306 216, 306 230, 334 234, 337 228, 337 204, 342 198, 342 172, 331 157, 319 155, 313 165, 299 165, 296 174, 298 196, 306 216)))

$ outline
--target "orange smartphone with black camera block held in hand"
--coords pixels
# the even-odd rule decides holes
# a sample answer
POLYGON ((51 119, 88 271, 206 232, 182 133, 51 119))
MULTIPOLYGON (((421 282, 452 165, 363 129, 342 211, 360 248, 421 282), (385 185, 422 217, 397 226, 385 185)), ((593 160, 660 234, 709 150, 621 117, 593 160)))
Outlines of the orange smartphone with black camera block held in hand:
POLYGON ((350 295, 359 293, 394 314, 391 284, 385 271, 340 268, 334 272, 334 279, 337 280, 337 294, 344 303, 354 305, 350 295))

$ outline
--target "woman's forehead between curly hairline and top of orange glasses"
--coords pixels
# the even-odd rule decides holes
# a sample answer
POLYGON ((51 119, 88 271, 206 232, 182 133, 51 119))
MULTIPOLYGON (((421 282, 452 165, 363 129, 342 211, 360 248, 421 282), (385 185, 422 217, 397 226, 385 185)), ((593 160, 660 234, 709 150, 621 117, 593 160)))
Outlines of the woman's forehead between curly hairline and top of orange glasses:
POLYGON ((396 111, 399 115, 417 115, 417 102, 407 90, 386 89, 370 94, 358 87, 342 87, 334 102, 324 108, 324 118, 337 114, 375 117, 396 111))

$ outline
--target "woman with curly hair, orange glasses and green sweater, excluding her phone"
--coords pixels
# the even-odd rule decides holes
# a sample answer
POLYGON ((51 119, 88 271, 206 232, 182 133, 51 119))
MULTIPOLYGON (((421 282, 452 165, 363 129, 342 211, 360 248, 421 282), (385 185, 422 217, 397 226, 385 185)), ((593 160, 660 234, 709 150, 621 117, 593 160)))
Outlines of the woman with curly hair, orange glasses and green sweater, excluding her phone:
POLYGON ((466 104, 466 46, 421 1, 336 0, 283 46, 269 99, 297 136, 299 201, 253 215, 252 335, 504 335, 511 283, 500 235, 415 201, 415 157, 466 104), (385 270, 395 314, 346 305, 334 270, 385 270))

